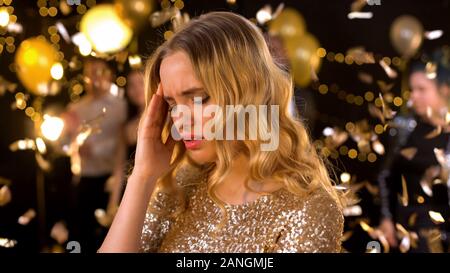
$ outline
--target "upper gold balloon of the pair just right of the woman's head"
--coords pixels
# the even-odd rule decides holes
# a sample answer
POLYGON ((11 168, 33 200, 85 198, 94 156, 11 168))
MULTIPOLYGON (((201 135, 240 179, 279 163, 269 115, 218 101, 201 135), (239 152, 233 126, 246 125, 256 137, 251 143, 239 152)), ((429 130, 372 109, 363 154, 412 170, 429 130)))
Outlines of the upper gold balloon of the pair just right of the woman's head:
POLYGON ((305 20, 297 10, 285 8, 269 23, 269 32, 271 35, 279 35, 283 39, 299 37, 306 32, 305 20))

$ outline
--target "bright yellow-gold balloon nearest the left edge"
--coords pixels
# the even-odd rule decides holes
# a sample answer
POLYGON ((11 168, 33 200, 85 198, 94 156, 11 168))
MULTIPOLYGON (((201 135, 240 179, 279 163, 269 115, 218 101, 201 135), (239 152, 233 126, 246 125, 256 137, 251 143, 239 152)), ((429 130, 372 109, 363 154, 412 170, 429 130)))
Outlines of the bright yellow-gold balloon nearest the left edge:
POLYGON ((57 62, 56 49, 42 36, 29 38, 20 44, 15 62, 22 84, 35 95, 47 95, 50 70, 57 62))

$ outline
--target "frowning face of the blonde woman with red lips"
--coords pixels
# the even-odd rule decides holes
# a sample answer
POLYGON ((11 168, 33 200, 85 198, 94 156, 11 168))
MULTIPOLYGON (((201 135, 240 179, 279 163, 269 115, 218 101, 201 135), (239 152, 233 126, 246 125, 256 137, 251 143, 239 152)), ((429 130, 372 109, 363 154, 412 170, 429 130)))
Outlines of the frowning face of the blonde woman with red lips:
MULTIPOLYGON (((216 160, 215 141, 208 141, 203 136, 196 136, 202 139, 193 140, 195 124, 204 126, 211 119, 211 117, 203 117, 203 115, 194 115, 194 97, 201 98, 200 103, 202 103, 203 108, 209 104, 214 104, 214 101, 196 78, 189 57, 182 51, 177 51, 165 57, 161 63, 159 74, 164 99, 169 104, 169 115, 174 107, 180 107, 180 105, 187 106, 190 109, 191 132, 187 132, 182 127, 179 131, 188 156, 198 164, 214 162, 216 160)), ((174 118, 172 120, 176 121, 174 118)))

